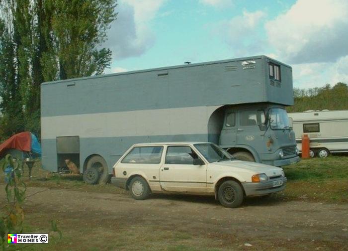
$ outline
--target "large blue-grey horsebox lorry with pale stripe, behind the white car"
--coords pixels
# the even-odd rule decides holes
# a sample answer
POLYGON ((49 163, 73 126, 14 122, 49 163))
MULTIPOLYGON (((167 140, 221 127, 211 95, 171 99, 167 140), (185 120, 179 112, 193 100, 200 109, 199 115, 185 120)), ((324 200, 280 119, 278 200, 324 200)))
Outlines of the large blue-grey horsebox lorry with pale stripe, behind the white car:
POLYGON ((299 161, 284 109, 293 105, 292 69, 255 56, 123 72, 41 85, 43 168, 70 159, 84 173, 112 166, 135 143, 209 141, 242 160, 299 161))

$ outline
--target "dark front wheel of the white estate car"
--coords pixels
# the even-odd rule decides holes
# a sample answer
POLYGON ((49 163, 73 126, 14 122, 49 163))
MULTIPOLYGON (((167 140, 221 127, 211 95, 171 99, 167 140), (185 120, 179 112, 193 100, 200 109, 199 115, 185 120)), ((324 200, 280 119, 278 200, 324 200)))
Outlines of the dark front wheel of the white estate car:
POLYGON ((243 189, 233 180, 227 180, 219 187, 218 198, 224 207, 239 207, 244 200, 243 189))

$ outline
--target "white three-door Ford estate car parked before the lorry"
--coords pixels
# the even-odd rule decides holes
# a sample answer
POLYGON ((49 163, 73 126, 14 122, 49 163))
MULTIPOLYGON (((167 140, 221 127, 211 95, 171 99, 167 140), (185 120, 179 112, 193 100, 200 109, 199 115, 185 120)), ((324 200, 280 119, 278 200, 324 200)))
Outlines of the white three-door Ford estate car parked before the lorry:
POLYGON ((111 182, 137 200, 150 193, 211 194, 232 208, 245 197, 279 192, 286 185, 282 168, 236 160, 204 142, 134 144, 113 171, 111 182))

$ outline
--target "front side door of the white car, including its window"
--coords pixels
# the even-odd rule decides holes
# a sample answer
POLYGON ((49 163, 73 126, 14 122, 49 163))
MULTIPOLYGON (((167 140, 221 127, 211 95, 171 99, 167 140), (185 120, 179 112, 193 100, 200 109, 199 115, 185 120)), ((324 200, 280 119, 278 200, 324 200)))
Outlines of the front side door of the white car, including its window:
POLYGON ((206 193, 207 165, 193 165, 199 158, 189 145, 167 146, 165 163, 160 171, 163 191, 180 193, 206 193))

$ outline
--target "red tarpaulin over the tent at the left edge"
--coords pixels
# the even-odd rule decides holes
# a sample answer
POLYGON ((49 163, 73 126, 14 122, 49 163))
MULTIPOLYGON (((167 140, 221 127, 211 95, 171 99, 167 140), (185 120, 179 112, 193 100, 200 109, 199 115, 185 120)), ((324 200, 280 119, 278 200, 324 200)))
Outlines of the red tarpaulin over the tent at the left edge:
POLYGON ((31 150, 31 133, 30 131, 24 131, 14 134, 9 139, 0 144, 0 155, 6 149, 17 149, 21 151, 31 150))

